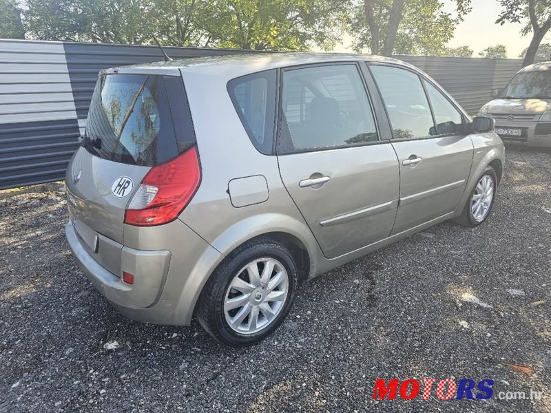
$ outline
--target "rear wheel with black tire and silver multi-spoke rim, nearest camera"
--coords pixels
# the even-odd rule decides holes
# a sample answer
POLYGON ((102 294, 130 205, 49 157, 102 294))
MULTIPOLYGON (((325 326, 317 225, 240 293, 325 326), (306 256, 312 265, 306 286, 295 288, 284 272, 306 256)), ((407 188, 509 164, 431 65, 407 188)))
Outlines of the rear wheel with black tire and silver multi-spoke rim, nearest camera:
POLYGON ((297 286, 297 266, 289 250, 273 240, 252 240, 216 268, 201 292, 196 315, 202 327, 221 343, 251 346, 282 324, 297 286))

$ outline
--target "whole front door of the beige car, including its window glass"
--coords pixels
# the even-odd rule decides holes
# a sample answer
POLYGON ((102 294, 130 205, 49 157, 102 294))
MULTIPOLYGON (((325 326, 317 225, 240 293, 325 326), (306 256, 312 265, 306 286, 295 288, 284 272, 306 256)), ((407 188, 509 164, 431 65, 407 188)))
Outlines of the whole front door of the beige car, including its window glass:
POLYGON ((393 129, 400 168, 392 235, 451 215, 464 193, 473 147, 464 115, 430 81, 404 67, 370 65, 393 129))

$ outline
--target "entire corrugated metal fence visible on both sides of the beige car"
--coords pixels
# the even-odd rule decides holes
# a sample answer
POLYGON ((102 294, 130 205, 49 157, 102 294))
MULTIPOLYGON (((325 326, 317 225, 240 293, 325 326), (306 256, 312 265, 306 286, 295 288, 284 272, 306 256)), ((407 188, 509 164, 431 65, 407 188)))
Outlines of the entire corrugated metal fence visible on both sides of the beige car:
MULTIPOLYGON (((173 57, 244 53, 167 47, 173 57)), ((433 76, 471 114, 520 60, 396 56, 433 76)), ((156 46, 0 40, 0 189, 63 179, 99 70, 162 60, 156 46)))

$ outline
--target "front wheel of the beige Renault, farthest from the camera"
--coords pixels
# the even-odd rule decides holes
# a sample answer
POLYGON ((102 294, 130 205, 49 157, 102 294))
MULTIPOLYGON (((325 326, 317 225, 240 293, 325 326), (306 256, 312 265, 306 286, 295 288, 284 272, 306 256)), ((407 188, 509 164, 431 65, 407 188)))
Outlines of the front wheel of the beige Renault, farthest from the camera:
POLYGON ((487 167, 472 189, 463 212, 456 221, 471 228, 486 221, 494 205, 496 189, 497 175, 492 167, 487 167))

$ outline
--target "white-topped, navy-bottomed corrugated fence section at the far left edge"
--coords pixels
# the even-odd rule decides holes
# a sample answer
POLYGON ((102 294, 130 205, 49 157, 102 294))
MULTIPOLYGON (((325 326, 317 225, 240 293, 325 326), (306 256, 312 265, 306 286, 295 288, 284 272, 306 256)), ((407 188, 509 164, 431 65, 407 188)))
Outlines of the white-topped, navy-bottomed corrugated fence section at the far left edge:
POLYGON ((78 137, 63 44, 0 41, 0 189, 63 178, 78 137))

